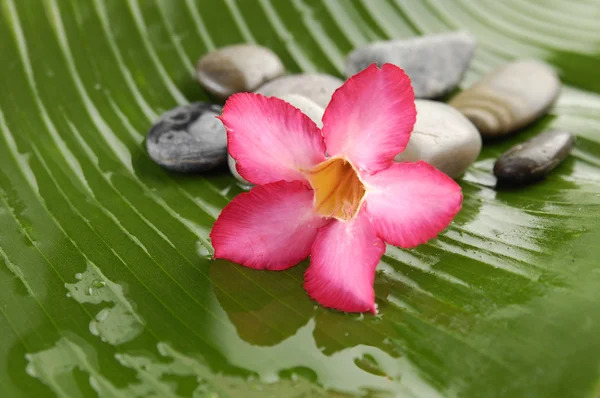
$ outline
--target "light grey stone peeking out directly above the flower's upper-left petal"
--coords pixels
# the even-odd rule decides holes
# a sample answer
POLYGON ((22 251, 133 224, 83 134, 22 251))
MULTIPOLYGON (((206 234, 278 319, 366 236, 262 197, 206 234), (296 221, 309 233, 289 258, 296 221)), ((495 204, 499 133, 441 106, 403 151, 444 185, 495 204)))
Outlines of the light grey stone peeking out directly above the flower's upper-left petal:
POLYGON ((325 109, 335 90, 342 84, 343 80, 324 73, 300 73, 271 80, 256 92, 279 98, 289 94, 301 95, 325 109))

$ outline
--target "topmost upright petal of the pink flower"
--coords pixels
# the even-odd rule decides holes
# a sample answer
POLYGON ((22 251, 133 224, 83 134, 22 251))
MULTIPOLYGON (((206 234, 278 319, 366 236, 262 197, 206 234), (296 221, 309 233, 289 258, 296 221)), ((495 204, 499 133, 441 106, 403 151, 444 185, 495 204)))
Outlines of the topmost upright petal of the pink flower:
POLYGON ((378 69, 373 64, 333 94, 323 115, 327 152, 375 173, 404 150, 415 120, 415 94, 408 76, 395 65, 378 69))

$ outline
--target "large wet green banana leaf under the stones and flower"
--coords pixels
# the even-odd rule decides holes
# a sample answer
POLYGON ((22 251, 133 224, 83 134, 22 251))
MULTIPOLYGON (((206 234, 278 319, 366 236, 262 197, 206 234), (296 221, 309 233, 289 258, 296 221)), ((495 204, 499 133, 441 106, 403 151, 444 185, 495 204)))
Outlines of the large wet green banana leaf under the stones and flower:
POLYGON ((598 397, 598 20, 598 0, 0 0, 0 396, 598 397), (479 43, 463 88, 515 58, 565 87, 485 146, 438 239, 388 248, 377 316, 312 302, 306 262, 210 259, 241 189, 143 147, 161 112, 211 101, 199 56, 259 43, 341 76, 357 46, 458 29, 479 43), (546 128, 577 134, 569 159, 496 190, 495 158, 546 128))

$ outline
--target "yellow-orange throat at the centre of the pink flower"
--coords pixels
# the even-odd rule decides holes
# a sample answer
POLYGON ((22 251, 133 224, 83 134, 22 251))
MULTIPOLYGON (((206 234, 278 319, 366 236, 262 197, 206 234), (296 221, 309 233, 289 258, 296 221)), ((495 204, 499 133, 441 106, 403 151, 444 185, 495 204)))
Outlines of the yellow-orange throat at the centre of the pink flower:
POLYGON ((350 220, 358 213, 366 191, 349 161, 331 158, 306 175, 315 191, 317 213, 339 220, 350 220))

